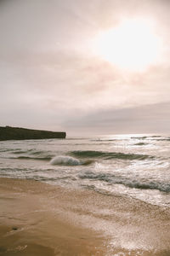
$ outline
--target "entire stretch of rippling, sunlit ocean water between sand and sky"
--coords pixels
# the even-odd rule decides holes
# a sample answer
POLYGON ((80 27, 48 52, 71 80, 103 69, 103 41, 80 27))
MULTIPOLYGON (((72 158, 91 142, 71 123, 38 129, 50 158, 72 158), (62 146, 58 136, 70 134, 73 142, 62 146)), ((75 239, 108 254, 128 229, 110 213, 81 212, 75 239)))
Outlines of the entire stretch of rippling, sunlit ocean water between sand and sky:
POLYGON ((170 137, 114 135, 0 142, 0 177, 170 207, 170 137))

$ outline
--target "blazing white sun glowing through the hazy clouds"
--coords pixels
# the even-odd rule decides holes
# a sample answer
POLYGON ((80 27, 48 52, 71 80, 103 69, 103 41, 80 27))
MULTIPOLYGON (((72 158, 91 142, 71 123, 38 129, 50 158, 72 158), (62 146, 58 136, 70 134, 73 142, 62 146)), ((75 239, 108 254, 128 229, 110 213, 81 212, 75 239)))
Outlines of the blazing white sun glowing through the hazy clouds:
POLYGON ((95 53, 116 67, 143 71, 161 54, 161 38, 148 20, 124 20, 119 26, 99 32, 94 39, 95 53))

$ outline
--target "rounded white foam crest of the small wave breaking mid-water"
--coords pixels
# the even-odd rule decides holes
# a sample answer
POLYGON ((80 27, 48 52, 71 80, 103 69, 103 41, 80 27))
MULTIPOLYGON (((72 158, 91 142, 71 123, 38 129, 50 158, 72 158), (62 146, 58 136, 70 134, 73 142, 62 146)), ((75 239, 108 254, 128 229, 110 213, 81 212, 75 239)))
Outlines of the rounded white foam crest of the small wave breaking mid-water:
POLYGON ((50 164, 55 165, 65 165, 65 166, 80 166, 82 165, 80 160, 77 160, 74 157, 66 155, 57 155, 50 161, 50 164))

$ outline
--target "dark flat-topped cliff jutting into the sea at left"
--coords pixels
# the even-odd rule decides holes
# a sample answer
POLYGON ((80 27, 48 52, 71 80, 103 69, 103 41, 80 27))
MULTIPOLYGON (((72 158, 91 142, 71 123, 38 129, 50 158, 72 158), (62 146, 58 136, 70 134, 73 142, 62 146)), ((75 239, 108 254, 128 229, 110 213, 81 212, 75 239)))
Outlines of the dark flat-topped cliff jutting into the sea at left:
POLYGON ((61 131, 42 131, 26 128, 0 126, 0 141, 6 140, 30 140, 30 139, 48 139, 65 138, 66 133, 61 131))

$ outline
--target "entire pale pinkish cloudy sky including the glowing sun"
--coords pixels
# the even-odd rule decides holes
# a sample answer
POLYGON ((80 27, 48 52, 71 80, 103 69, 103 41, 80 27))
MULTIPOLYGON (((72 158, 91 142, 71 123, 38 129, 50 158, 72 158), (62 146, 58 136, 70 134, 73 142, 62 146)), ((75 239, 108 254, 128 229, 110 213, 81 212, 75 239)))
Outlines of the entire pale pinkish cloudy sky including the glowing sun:
POLYGON ((168 133, 170 1, 0 0, 0 125, 168 133))

